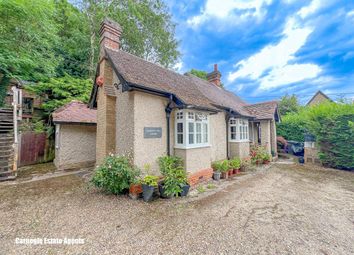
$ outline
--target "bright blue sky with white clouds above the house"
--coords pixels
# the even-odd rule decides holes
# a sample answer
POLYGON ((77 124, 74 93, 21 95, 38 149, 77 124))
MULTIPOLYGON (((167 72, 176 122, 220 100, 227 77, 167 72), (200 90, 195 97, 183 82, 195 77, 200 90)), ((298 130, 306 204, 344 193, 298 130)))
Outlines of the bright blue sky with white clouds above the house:
POLYGON ((247 102, 322 90, 354 98, 354 0, 168 1, 182 53, 176 69, 211 71, 247 102), (348 94, 351 93, 351 94, 348 94))

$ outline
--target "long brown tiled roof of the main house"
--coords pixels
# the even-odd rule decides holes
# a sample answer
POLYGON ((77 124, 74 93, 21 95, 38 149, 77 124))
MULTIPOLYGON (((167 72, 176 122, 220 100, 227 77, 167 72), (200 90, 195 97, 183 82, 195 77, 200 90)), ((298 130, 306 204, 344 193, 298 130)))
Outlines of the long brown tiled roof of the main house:
POLYGON ((184 104, 217 110, 231 108, 240 115, 271 119, 276 105, 248 105, 234 93, 194 75, 182 75, 122 50, 105 48, 114 69, 130 84, 172 93, 184 104))

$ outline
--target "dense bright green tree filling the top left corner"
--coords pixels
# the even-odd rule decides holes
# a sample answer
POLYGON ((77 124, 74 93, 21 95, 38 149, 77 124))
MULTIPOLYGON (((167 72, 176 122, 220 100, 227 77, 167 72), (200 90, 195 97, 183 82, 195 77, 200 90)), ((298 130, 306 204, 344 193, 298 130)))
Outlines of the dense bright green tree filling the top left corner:
POLYGON ((52 1, 0 1, 0 73, 38 81, 55 74, 60 59, 52 1))

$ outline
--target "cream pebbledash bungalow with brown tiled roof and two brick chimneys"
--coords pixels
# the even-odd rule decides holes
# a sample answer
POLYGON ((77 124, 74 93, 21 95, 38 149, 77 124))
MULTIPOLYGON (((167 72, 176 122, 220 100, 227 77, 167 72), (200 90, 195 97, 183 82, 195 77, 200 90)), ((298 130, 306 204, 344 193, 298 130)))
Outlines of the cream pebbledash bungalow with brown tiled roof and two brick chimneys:
POLYGON ((181 75, 119 49, 121 27, 100 29, 100 58, 90 107, 97 108, 96 163, 108 153, 130 153, 150 164, 162 155, 183 158, 198 178, 211 162, 249 155, 251 144, 276 156, 276 102, 247 104, 221 87, 217 65, 208 81, 181 75))

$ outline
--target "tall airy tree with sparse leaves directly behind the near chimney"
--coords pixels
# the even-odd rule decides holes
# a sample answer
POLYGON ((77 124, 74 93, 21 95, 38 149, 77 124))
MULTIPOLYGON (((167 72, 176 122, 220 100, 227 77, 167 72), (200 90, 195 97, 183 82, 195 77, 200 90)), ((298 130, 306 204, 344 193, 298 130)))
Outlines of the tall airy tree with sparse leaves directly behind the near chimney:
POLYGON ((86 15, 90 29, 90 72, 95 71, 98 56, 98 30, 104 17, 118 22, 123 29, 124 51, 148 61, 171 67, 180 53, 174 38, 175 24, 161 0, 82 0, 79 8, 86 15))

